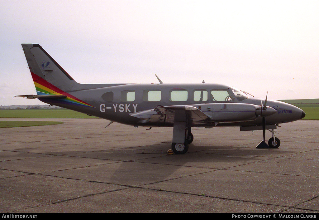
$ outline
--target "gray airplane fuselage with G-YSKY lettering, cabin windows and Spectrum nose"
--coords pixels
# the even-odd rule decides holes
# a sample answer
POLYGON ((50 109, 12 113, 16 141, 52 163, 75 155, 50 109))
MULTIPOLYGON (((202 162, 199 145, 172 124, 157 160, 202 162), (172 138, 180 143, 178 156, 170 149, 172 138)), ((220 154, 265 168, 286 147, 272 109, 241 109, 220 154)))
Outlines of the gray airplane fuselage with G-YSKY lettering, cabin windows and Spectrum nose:
MULTIPOLYGON (((85 84, 84 84, 85 85, 85 84)), ((200 127, 212 126, 255 126, 261 125, 260 117, 241 118, 240 114, 249 114, 252 109, 241 106, 229 108, 232 104, 252 104, 261 106, 264 99, 248 97, 241 91, 221 84, 121 84, 102 88, 69 91, 69 94, 93 106, 77 106, 63 103, 63 100, 39 98, 41 101, 69 108, 85 114, 97 116, 111 121, 138 126, 173 126, 170 122, 145 122, 131 116, 134 113, 154 109, 156 106, 187 105, 194 106, 210 117, 207 123, 200 127), (224 114, 225 118, 220 118, 224 114), (235 120, 232 116, 238 115, 235 120), (218 117, 219 116, 219 117, 218 117), (230 117, 229 117, 230 116, 230 117), (218 122, 212 124, 212 122, 218 122)), ((302 110, 296 106, 268 100, 267 106, 277 110, 277 113, 267 117, 267 124, 279 124, 299 120, 302 110)))

